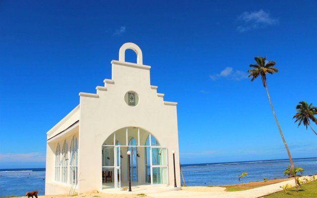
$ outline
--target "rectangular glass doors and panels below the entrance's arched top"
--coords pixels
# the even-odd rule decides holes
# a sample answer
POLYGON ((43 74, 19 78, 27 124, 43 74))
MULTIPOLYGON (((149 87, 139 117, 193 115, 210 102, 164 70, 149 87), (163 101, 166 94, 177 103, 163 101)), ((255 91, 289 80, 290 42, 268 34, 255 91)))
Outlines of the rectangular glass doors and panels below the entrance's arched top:
POLYGON ((103 178, 103 189, 120 189, 122 186, 128 185, 129 164, 127 163, 127 150, 131 151, 131 182, 137 182, 139 185, 159 185, 168 183, 168 164, 166 148, 162 148, 160 146, 104 146, 103 174, 105 178, 103 178), (145 156, 142 156, 142 154, 139 153, 140 151, 141 153, 144 153, 145 156), (122 161, 124 162, 123 166, 122 161), (139 173, 139 171, 141 172, 139 173), (142 176, 145 178, 143 179, 142 176), (111 178, 110 180, 109 177, 111 178))

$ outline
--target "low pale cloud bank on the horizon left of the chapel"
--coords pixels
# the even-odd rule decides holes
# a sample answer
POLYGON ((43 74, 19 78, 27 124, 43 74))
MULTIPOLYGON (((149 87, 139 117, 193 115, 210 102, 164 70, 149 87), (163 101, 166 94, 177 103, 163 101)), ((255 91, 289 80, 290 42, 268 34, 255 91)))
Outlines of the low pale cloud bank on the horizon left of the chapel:
POLYGON ((45 159, 45 155, 39 152, 6 154, 0 153, 1 162, 44 162, 45 159))

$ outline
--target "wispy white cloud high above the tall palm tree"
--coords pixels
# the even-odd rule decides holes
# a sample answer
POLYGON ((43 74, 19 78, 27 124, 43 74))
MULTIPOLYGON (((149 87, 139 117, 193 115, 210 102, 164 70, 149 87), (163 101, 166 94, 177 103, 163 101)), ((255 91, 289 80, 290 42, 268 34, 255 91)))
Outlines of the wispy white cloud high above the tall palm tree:
POLYGON ((272 18, 263 9, 253 12, 243 12, 238 16, 238 20, 243 21, 243 25, 237 27, 238 32, 246 32, 252 29, 264 28, 269 25, 278 24, 278 19, 272 18))

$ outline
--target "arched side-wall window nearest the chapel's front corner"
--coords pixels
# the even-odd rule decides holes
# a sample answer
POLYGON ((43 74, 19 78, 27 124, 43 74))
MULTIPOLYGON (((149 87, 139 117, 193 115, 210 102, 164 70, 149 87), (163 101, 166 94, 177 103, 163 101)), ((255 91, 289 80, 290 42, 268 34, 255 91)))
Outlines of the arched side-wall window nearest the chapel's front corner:
POLYGON ((77 184, 77 156, 78 156, 78 142, 77 137, 73 136, 70 144, 70 184, 77 184))

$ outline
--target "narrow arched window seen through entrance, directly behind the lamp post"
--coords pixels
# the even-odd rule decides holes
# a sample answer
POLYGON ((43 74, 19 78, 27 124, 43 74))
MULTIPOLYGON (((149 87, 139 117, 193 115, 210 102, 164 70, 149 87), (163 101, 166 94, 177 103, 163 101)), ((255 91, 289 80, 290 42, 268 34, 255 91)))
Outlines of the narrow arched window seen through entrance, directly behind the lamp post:
POLYGON ((138 181, 138 149, 136 146, 137 146, 137 141, 134 138, 131 138, 129 141, 129 147, 128 147, 128 150, 131 151, 131 155, 130 155, 131 182, 138 181))

